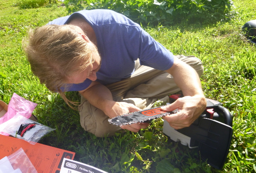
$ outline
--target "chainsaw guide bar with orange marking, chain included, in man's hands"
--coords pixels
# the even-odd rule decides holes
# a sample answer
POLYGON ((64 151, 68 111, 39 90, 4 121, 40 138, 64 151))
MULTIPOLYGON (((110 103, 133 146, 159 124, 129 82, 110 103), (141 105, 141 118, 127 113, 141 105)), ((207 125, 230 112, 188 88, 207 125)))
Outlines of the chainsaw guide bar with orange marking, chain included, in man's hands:
POLYGON ((176 114, 177 112, 179 112, 179 110, 166 112, 161 110, 161 106, 159 106, 159 107, 154 107, 146 110, 132 112, 129 114, 123 114, 123 115, 108 119, 108 121, 111 124, 114 124, 116 126, 125 126, 125 125, 131 125, 138 122, 147 122, 152 119, 160 118, 166 115, 176 114))

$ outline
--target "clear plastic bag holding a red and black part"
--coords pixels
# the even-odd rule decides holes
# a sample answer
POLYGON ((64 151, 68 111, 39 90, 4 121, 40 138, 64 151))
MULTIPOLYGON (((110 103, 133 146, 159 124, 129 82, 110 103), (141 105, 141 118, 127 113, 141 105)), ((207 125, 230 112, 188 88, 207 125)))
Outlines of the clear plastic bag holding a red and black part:
POLYGON ((36 144, 45 134, 53 131, 48 126, 34 122, 20 114, 0 125, 0 131, 12 135, 13 137, 23 139, 31 144, 36 144))

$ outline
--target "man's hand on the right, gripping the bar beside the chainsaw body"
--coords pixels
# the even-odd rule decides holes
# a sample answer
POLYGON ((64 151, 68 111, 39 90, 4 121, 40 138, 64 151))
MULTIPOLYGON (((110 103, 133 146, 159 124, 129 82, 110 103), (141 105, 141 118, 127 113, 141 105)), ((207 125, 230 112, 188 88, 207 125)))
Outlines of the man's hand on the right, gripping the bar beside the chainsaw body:
POLYGON ((182 129, 183 127, 190 126, 202 114, 205 108, 205 97, 195 95, 178 98, 174 103, 161 107, 161 110, 170 112, 178 109, 178 113, 164 116, 163 119, 169 122, 171 127, 182 129))

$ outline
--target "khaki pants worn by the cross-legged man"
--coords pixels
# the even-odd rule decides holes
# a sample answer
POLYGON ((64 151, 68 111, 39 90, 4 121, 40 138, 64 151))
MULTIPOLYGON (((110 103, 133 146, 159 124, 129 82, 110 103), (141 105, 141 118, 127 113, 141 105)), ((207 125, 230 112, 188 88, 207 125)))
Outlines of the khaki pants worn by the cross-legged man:
MULTIPOLYGON (((203 74, 202 62, 195 56, 175 55, 195 69, 199 76, 203 74)), ((132 103, 140 109, 150 108, 161 99, 168 102, 169 94, 180 89, 173 77, 165 71, 141 66, 137 60, 134 73, 127 79, 106 85, 111 91, 114 101, 132 103)), ((109 117, 95 106, 92 106, 83 96, 78 107, 81 126, 97 137, 112 136, 120 127, 108 122, 109 117)))

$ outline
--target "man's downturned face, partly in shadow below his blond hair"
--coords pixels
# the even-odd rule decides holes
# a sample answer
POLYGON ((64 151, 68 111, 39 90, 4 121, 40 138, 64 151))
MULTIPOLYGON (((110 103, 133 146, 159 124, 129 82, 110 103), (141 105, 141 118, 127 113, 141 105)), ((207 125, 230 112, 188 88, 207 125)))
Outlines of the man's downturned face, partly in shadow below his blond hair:
POLYGON ((72 76, 68 77, 67 83, 83 83, 85 79, 90 79, 92 81, 95 81, 97 79, 96 72, 99 71, 101 67, 101 57, 98 54, 97 48, 95 48, 95 45, 92 45, 93 48, 93 58, 94 63, 90 64, 84 71, 77 72, 72 76))

